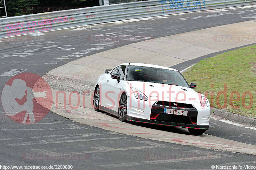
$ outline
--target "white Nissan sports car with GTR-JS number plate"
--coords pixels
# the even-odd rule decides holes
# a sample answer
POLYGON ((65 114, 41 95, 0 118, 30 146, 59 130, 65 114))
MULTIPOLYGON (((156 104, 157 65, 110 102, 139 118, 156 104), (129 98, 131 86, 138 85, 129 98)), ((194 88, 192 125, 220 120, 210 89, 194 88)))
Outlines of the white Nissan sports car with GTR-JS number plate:
POLYGON ((121 121, 184 127, 202 134, 209 128, 210 104, 195 88, 178 70, 123 63, 99 76, 93 105, 121 121))

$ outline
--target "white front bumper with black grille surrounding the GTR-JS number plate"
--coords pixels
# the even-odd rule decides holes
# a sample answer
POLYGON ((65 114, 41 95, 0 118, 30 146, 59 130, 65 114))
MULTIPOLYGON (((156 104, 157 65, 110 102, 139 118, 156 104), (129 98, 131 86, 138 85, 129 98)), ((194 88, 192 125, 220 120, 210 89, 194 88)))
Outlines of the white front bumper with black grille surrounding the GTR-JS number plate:
MULTIPOLYGON (((201 108, 196 102, 184 101, 182 106, 180 106, 181 103, 179 104, 182 107, 180 108, 179 106, 174 107, 165 102, 158 103, 159 99, 145 102, 134 98, 130 98, 130 101, 128 101, 131 103, 131 108, 127 109, 128 121, 206 130, 209 128, 209 119, 205 119, 205 117, 210 116, 210 107, 201 108), (187 110, 188 116, 166 114, 164 113, 164 108, 187 110)), ((165 99, 165 101, 168 100, 175 102, 175 99, 165 99)))

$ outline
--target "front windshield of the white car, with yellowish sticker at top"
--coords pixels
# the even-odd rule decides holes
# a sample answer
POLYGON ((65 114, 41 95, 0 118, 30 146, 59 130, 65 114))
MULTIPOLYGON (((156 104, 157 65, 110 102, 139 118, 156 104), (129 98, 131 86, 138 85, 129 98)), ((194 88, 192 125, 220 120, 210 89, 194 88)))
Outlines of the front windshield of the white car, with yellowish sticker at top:
POLYGON ((187 81, 180 72, 154 67, 129 66, 127 80, 188 87, 187 81))

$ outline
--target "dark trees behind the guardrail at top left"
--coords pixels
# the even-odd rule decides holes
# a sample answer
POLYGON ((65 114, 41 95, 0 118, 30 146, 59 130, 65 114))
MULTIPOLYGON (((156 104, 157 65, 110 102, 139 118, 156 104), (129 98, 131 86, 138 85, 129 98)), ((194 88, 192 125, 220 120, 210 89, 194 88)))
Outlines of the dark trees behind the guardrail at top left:
MULTIPOLYGON (((99 0, 5 0, 8 17, 98 6, 99 0)), ((2 5, 1 3, 1 6, 2 5)), ((1 10, 1 16, 5 13, 1 10)))

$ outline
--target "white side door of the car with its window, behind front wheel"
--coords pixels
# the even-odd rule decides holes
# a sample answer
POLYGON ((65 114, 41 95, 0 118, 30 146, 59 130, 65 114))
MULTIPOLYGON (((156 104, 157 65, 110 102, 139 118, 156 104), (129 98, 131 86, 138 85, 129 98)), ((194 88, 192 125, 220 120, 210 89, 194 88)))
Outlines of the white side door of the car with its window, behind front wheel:
POLYGON ((125 74, 126 65, 121 65, 113 69, 110 73, 110 79, 107 80, 107 87, 109 91, 106 92, 106 107, 118 112, 118 101, 120 98, 119 94, 122 90, 123 83, 124 83, 124 74, 125 74), (112 79, 112 74, 119 74, 120 82, 116 79, 112 79))

